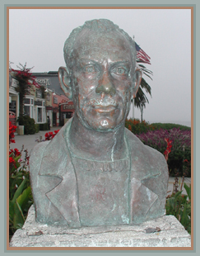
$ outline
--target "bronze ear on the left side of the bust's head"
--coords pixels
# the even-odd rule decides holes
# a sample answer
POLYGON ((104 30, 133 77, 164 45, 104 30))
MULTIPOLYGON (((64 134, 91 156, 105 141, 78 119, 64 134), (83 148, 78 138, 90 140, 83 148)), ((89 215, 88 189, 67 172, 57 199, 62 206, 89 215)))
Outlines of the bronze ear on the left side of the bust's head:
POLYGON ((70 78, 67 73, 67 69, 60 67, 58 69, 58 78, 60 82, 60 87, 62 88, 64 94, 71 99, 72 98, 72 87, 70 85, 70 78))

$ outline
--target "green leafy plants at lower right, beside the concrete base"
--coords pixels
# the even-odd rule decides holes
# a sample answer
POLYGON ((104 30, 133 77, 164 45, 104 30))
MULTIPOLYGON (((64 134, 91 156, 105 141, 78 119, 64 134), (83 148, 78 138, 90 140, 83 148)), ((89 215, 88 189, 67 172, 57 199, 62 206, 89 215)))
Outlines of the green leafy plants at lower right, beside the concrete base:
POLYGON ((166 199, 166 215, 173 215, 184 225, 185 230, 191 234, 191 186, 188 187, 184 183, 187 195, 183 195, 182 191, 172 194, 166 199))

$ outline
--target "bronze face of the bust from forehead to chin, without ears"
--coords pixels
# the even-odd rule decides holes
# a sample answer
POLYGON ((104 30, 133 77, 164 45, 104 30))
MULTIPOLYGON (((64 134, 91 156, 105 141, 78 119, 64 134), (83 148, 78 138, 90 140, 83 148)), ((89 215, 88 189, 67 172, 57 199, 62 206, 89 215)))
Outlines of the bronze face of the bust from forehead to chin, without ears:
POLYGON ((73 99, 81 123, 113 130, 128 116, 133 96, 133 59, 128 40, 118 31, 84 30, 74 45, 73 99))

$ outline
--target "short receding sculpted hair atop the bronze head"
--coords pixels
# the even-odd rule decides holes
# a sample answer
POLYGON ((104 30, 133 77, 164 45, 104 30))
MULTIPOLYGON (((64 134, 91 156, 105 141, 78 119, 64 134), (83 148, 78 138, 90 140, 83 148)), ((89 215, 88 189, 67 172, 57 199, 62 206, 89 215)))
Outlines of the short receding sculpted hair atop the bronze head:
POLYGON ((121 32, 129 42, 133 55, 133 63, 136 63, 137 51, 135 47, 135 42, 130 36, 128 36, 128 33, 120 29, 119 26, 114 24, 114 22, 106 19, 86 21, 83 26, 78 26, 77 28, 75 28, 64 43, 64 59, 69 76, 71 76, 72 73, 73 45, 79 33, 81 33, 81 31, 83 31, 84 29, 98 31, 100 33, 105 33, 109 31, 121 32))

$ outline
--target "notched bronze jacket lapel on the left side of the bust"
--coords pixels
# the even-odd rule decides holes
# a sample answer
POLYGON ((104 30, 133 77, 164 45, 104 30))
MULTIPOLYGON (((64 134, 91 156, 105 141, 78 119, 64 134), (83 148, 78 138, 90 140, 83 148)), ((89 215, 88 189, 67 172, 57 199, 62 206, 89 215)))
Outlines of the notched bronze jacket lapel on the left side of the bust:
POLYGON ((71 121, 47 145, 39 175, 58 177, 60 182, 46 192, 46 197, 63 215, 70 227, 80 227, 77 206, 77 178, 72 165, 65 136, 71 121), (61 146, 62 145, 62 146, 61 146))

